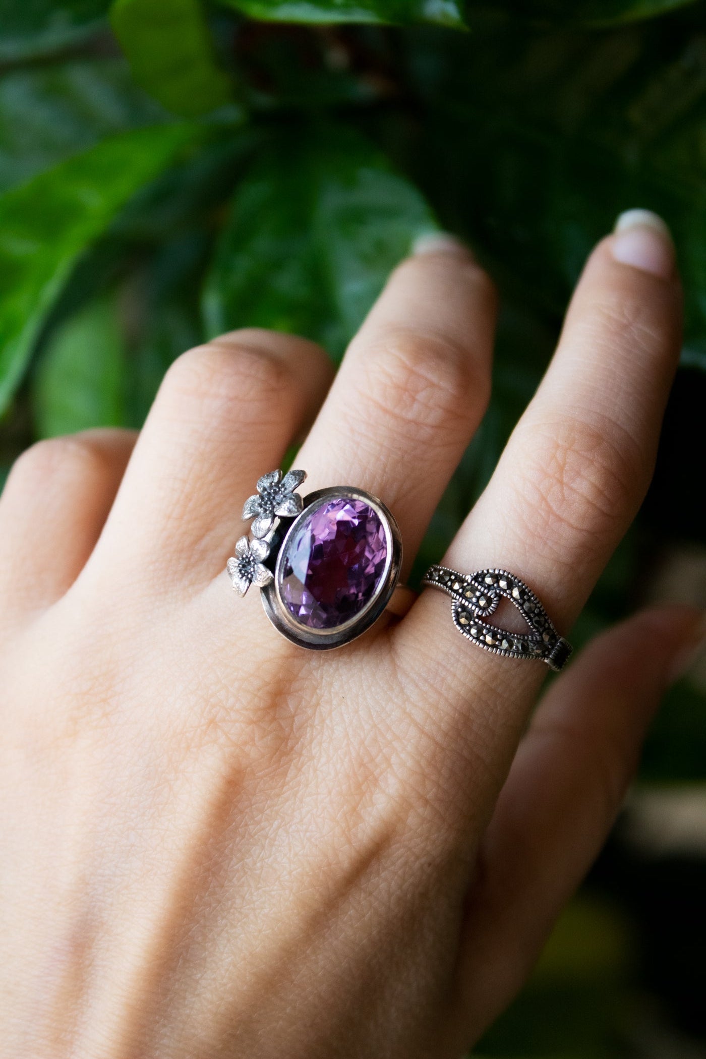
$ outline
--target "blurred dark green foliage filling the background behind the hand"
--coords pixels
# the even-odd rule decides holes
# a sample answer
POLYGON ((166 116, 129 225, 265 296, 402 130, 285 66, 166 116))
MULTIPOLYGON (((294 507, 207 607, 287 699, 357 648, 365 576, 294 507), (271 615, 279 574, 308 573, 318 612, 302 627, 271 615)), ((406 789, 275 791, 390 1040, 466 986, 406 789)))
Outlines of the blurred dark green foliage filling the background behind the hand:
MULTIPOLYGON (((704 14, 703 0, 0 0, 0 484, 35 437, 139 426, 174 358, 221 329, 296 331, 338 359, 440 225, 474 246, 503 309, 491 407, 418 571, 488 481, 587 251, 646 207, 678 245, 684 370, 583 642, 649 596, 675 541, 705 544, 688 460, 706 397, 704 14)), ((670 693, 644 778, 706 778, 693 681, 670 693)), ((706 991, 688 947, 668 949, 686 930, 668 943, 646 915, 636 941, 619 850, 482 1054, 632 1055, 640 986, 706 1038, 696 1002, 677 1011, 640 964, 652 945, 706 991)), ((670 907, 681 870, 655 890, 670 907)))

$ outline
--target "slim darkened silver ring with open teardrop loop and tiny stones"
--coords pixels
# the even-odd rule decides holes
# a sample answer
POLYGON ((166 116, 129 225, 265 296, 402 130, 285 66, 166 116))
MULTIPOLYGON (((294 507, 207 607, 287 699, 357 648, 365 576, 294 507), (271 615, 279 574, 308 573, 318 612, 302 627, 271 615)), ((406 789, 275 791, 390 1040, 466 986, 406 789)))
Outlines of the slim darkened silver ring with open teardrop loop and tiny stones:
POLYGON ((449 567, 430 567, 421 582, 448 593, 453 599, 451 616, 458 631, 493 654, 537 659, 559 672, 574 650, 559 635, 532 590, 507 570, 459 574, 449 567), (497 609, 503 596, 518 608, 529 632, 508 632, 486 621, 497 609))

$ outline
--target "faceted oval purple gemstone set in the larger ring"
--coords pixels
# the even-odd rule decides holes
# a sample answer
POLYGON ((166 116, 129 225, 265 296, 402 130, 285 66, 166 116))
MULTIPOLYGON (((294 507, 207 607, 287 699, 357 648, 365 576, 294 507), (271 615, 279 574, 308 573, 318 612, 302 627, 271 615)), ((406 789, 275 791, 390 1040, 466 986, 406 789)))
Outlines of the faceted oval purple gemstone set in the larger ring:
POLYGON ((287 542, 282 598, 302 625, 334 629, 372 599, 386 557, 385 530, 372 507, 348 497, 324 501, 287 542))

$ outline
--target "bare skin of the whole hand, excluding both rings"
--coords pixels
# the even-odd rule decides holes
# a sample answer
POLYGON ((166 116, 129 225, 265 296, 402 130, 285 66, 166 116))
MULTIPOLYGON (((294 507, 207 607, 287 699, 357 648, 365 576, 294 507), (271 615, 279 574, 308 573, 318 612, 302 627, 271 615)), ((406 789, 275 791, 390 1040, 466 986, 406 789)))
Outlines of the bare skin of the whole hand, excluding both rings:
MULTIPOLYGON (((517 572, 562 632, 647 488, 680 348, 671 244, 654 233, 650 271, 617 238, 443 559, 517 572)), ((334 381, 311 343, 236 331, 175 363, 139 437, 17 462, 0 499, 8 1059, 453 1059, 521 986, 700 615, 637 614, 535 710, 545 667, 474 649, 439 592, 310 652, 223 573, 243 500, 301 436, 307 489, 382 497, 409 564, 486 408, 494 312, 449 243, 394 272, 334 381)))

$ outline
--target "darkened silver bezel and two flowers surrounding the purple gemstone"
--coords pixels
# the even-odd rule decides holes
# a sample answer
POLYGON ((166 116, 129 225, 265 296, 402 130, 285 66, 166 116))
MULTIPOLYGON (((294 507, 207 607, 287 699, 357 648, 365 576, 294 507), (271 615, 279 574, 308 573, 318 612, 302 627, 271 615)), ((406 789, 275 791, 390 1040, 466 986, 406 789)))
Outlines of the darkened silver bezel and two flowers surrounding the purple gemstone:
POLYGON ((402 564, 402 538, 399 526, 390 509, 381 500, 355 486, 339 485, 329 489, 316 489, 302 498, 294 492, 305 480, 302 470, 291 470, 287 474, 271 471, 257 483, 257 493, 246 502, 243 519, 254 518, 253 531, 261 539, 249 541, 241 537, 236 556, 228 560, 228 573, 233 588, 245 595, 249 585, 261 589, 265 613, 275 629, 300 647, 312 650, 330 650, 350 643, 377 622, 391 602, 399 580, 402 564), (385 533, 386 557, 380 581, 365 607, 343 625, 333 629, 312 629, 296 621, 279 593, 282 566, 287 554, 286 544, 290 535, 295 534, 302 521, 312 507, 319 507, 327 500, 342 497, 360 500, 373 508, 385 533), (293 517, 288 517, 288 513, 293 517), (297 514, 298 513, 298 514, 297 514), (265 584, 265 574, 271 573, 265 584))

